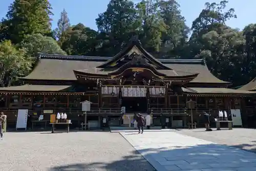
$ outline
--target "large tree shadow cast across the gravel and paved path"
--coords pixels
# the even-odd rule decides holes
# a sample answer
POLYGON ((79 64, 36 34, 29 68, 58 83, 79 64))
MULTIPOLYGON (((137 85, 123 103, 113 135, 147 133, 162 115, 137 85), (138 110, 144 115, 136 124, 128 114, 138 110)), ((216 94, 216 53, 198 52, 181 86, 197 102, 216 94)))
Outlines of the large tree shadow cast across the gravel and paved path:
MULTIPOLYGON (((241 148, 247 144, 241 144, 241 148)), ((113 161, 110 163, 90 162, 90 163, 74 163, 70 165, 61 165, 52 167, 49 171, 59 170, 118 170, 118 171, 137 171, 137 170, 161 170, 162 165, 165 164, 166 169, 170 165, 166 162, 172 162, 173 167, 178 169, 207 169, 207 168, 234 168, 234 170, 255 168, 256 170, 256 154, 241 151, 238 148, 219 145, 219 144, 202 144, 195 146, 172 146, 162 148, 146 148, 134 151, 134 155, 125 156, 122 160, 113 161), (173 148, 173 149, 170 149, 173 148), (139 153, 143 155, 141 157, 139 153), (147 161, 153 167, 149 167, 147 161), (250 164, 248 166, 248 163, 250 164), (236 168, 236 169, 235 169, 236 168)), ((256 149, 254 149, 255 151, 256 149)), ((247 170, 248 170, 247 169, 247 170)), ((175 169, 173 169, 175 170, 175 169)), ((251 169, 249 169, 251 170, 251 169)))

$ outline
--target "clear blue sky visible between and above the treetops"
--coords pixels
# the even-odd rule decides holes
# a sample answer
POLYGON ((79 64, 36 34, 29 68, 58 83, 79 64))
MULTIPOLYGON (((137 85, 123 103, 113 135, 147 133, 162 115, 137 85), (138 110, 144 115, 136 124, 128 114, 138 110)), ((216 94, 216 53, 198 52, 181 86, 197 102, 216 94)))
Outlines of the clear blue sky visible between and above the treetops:
MULTIPOLYGON (((13 0, 1 0, 0 3, 0 17, 4 17, 8 11, 8 6, 13 0)), ((134 0, 139 2, 139 0, 134 0)), ((190 27, 193 20, 199 15, 200 11, 204 8, 206 2, 220 1, 207 1, 207 0, 177 0, 181 6, 182 15, 186 18, 186 24, 190 27)), ((54 16, 53 29, 56 28, 57 20, 59 19, 60 12, 63 8, 68 12, 70 22, 72 25, 83 23, 85 26, 92 29, 97 29, 95 18, 98 14, 106 10, 109 0, 50 0, 52 4, 54 16)), ((238 18, 231 19, 227 25, 233 28, 243 29, 250 23, 256 23, 256 1, 252 0, 230 0, 227 8, 234 8, 238 18)))

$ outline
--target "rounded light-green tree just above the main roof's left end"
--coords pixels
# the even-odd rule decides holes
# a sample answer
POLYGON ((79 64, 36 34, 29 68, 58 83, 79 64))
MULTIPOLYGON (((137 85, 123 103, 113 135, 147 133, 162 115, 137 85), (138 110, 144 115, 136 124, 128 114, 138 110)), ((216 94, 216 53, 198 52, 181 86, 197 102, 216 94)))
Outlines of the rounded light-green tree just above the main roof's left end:
POLYGON ((26 48, 30 57, 35 57, 38 53, 66 55, 66 52, 59 47, 56 40, 41 34, 27 36, 21 42, 20 47, 26 48))

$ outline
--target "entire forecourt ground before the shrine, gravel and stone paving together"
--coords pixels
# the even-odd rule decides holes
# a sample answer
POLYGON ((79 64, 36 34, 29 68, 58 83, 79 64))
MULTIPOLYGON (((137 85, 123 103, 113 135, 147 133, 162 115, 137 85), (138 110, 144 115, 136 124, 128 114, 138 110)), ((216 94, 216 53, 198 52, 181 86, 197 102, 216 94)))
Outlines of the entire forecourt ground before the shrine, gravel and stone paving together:
POLYGON ((6 133, 0 170, 254 171, 256 130, 6 133), (153 166, 154 167, 153 167, 153 166))

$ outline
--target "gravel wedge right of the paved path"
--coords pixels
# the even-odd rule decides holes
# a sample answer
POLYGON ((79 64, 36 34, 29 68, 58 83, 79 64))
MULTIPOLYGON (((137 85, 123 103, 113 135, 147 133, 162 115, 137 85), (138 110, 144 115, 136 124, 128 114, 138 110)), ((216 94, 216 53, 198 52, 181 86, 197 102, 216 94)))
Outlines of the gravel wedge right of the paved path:
POLYGON ((256 130, 254 129, 233 129, 205 132, 205 129, 179 130, 177 133, 196 137, 199 139, 238 147, 256 153, 256 130))

